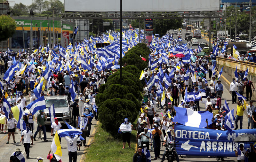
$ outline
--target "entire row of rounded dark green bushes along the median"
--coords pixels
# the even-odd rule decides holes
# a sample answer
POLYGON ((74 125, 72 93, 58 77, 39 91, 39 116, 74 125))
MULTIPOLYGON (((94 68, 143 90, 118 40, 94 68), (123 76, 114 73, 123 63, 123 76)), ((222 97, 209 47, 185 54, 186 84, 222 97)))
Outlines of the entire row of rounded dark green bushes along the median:
POLYGON ((116 138, 120 137, 117 130, 124 118, 128 118, 131 123, 137 118, 143 98, 143 85, 139 77, 141 70, 148 66, 148 60, 141 61, 140 56, 148 59, 149 53, 149 48, 142 43, 126 52, 123 60, 127 66, 122 68, 122 84, 118 70, 108 77, 107 83, 100 86, 95 98, 102 127, 116 138))

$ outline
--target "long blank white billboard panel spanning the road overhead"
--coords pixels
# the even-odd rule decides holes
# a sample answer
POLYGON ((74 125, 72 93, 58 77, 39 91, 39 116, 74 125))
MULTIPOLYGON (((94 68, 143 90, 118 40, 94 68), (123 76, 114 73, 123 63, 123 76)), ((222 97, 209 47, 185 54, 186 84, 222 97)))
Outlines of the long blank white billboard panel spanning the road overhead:
MULTIPOLYGON (((120 0, 65 0, 69 12, 120 12, 120 0)), ((219 11, 220 0, 123 0, 123 12, 219 11)))

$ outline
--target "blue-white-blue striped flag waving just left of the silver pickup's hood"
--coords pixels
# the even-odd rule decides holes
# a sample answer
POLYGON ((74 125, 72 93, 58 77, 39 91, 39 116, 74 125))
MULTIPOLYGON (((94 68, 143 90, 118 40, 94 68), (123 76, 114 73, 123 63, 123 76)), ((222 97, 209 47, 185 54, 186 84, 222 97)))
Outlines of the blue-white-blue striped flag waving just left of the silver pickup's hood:
POLYGON ((31 102, 26 106, 26 108, 34 115, 38 110, 44 110, 45 107, 45 101, 44 96, 36 99, 35 101, 31 102))

